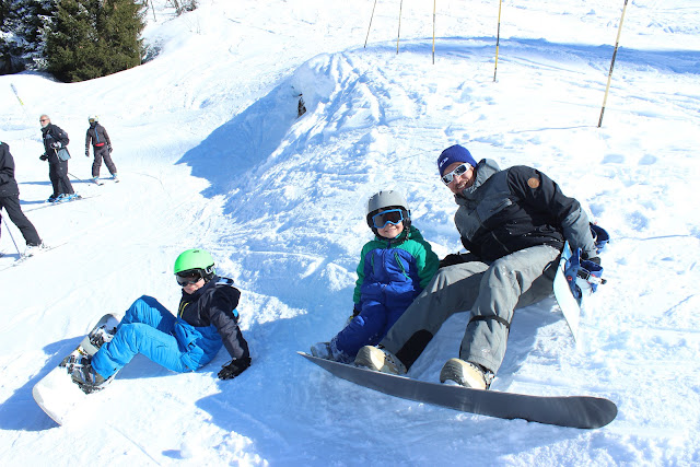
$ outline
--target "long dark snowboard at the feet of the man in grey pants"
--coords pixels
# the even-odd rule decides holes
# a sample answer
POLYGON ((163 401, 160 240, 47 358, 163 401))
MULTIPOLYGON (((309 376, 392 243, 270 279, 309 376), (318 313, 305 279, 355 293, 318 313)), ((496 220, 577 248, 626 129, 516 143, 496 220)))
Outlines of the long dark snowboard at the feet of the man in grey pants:
POLYGON ((501 419, 581 429, 602 428, 617 417, 617 406, 592 396, 529 396, 429 383, 319 359, 298 352, 335 376, 402 399, 501 419))

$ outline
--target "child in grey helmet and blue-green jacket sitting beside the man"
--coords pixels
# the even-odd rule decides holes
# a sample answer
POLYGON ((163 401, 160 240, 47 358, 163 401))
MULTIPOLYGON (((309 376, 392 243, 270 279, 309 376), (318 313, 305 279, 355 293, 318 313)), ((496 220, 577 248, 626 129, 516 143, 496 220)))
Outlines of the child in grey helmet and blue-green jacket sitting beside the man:
POLYGON ((411 225, 407 206, 394 190, 370 198, 366 221, 375 237, 362 248, 353 317, 330 342, 314 345, 314 357, 351 363, 360 348, 382 340, 438 271, 438 256, 411 225))

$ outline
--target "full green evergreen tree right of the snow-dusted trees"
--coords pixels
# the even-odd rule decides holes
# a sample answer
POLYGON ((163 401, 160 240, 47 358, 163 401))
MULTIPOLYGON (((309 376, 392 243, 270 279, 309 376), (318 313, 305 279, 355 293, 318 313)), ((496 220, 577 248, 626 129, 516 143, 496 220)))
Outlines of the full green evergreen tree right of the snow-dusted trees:
POLYGON ((48 71, 75 82, 140 65, 141 10, 133 0, 58 0, 46 40, 48 71))

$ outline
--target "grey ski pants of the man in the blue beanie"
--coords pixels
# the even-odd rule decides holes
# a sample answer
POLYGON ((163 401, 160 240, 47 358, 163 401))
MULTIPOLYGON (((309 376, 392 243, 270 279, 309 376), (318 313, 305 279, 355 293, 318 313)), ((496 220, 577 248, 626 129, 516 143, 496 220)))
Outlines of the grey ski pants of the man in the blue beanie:
POLYGON ((380 342, 410 367, 454 313, 471 311, 459 358, 495 374, 513 312, 551 295, 560 252, 533 246, 497 259, 444 267, 380 342))

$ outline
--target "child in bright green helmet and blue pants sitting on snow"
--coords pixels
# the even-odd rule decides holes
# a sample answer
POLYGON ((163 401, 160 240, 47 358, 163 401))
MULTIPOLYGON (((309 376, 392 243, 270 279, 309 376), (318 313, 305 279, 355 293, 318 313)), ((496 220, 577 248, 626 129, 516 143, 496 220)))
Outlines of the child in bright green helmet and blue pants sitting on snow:
POLYGON ((137 353, 183 373, 209 363, 223 346, 233 360, 219 372, 221 380, 250 366, 248 343, 237 325, 241 292, 233 280, 217 276, 214 261, 203 249, 184 252, 174 269, 183 288, 177 316, 151 296, 133 302, 114 337, 104 339, 92 360, 75 365, 80 367, 73 371, 73 381, 84 390, 104 386, 137 353))

